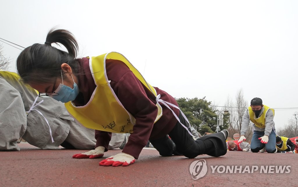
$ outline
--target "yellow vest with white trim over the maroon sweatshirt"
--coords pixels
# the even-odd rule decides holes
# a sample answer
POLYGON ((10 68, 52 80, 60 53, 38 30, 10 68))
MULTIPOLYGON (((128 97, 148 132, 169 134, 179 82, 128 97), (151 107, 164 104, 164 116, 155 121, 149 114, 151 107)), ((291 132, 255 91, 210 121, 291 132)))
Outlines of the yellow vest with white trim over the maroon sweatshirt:
MULTIPOLYGON (((88 57, 89 58, 89 57, 88 57)), ((139 81, 155 96, 156 90, 148 84, 139 71, 120 53, 110 52, 89 59, 90 70, 96 88, 85 106, 75 106, 71 101, 65 103, 68 112, 83 126, 116 133, 133 133, 136 119, 123 107, 106 75, 105 60, 115 59, 124 62, 139 81)), ((154 123, 162 116, 162 107, 157 102, 158 115, 154 123)))

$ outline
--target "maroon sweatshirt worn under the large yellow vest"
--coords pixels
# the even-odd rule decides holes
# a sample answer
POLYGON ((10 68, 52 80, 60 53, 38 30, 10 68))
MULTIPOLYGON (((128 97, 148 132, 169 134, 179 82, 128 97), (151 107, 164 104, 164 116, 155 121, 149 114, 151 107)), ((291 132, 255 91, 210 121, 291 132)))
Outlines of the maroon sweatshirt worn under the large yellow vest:
MULTIPOLYGON (((96 87, 89 68, 88 58, 77 59, 81 68, 78 76, 80 93, 73 101, 76 106, 84 106, 91 98, 96 87)), ((106 73, 110 85, 125 109, 136 119, 133 133, 129 136, 123 153, 136 159, 149 139, 158 139, 167 135, 175 126, 177 120, 172 111, 162 103, 162 117, 154 123, 157 116, 156 97, 136 78, 131 70, 119 60, 106 60, 106 73)), ((156 73, 156 72, 154 72, 156 73)), ((150 84, 150 83, 149 83, 150 84)), ((154 87, 160 99, 178 106, 176 100, 167 92, 154 87)), ((170 106, 179 115, 179 110, 170 106)), ((108 150, 111 132, 95 130, 96 146, 104 146, 108 150)))

